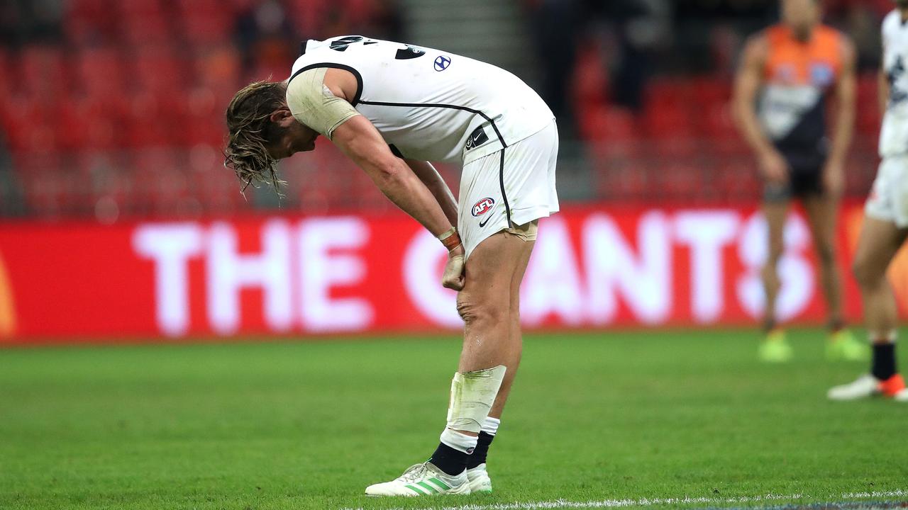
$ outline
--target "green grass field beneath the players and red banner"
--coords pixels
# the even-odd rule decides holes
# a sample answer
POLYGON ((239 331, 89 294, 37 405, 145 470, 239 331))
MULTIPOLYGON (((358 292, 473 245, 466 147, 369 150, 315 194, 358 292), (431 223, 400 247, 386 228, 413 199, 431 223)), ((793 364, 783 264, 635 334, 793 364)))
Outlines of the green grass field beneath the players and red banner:
POLYGON ((827 402, 866 367, 825 362, 821 331, 793 331, 785 366, 758 364, 755 339, 528 337, 495 494, 404 500, 361 494, 436 446, 457 338, 0 350, 0 508, 908 499, 908 406, 827 402))

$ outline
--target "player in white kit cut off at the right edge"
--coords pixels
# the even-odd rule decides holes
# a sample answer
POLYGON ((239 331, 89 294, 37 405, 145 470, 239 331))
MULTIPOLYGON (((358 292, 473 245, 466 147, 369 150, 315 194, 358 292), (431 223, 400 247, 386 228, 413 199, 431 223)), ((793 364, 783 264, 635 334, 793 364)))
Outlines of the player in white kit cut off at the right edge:
POLYGON ((908 390, 895 366, 898 309, 886 270, 908 238, 908 0, 883 20, 883 66, 880 69, 880 157, 864 209, 864 225, 854 255, 854 277, 861 287, 864 319, 873 344, 869 374, 833 387, 833 400, 883 395, 908 402, 908 390))

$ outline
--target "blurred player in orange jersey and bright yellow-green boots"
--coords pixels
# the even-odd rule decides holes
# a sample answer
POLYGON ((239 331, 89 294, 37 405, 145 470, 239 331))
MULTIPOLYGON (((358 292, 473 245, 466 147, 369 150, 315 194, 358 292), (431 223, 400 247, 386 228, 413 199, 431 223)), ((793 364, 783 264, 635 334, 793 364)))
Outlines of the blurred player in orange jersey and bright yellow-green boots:
POLYGON ((844 164, 854 130, 855 52, 844 34, 821 25, 818 0, 783 0, 782 23, 746 44, 735 80, 735 114, 765 181, 763 210, 768 225, 765 339, 759 357, 787 361, 792 349, 776 319, 785 251, 785 221, 798 198, 807 213, 820 260, 829 310, 827 357, 864 359, 866 348, 844 328, 842 275, 835 226, 844 187, 844 164), (826 137, 826 98, 834 94, 832 142, 826 137))

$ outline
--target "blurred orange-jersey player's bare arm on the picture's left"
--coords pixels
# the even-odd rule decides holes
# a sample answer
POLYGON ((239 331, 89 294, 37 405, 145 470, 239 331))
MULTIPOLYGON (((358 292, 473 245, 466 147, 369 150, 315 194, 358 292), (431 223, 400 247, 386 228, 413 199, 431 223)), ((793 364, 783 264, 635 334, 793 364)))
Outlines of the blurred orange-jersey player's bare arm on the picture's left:
POLYGON ((788 163, 763 132, 756 113, 756 96, 763 84, 763 69, 768 43, 763 34, 751 37, 745 45, 742 62, 735 76, 732 107, 738 129, 755 152, 760 172, 767 181, 788 181, 788 163))

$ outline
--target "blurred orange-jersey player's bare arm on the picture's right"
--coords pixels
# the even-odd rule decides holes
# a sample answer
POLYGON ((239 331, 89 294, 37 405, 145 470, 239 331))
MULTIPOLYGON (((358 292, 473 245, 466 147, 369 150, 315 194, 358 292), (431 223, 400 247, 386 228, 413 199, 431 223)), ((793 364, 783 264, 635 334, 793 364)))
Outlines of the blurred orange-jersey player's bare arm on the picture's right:
POLYGON ((832 148, 823 169, 824 187, 832 196, 842 194, 844 166, 848 147, 854 137, 855 103, 857 101, 857 56, 854 44, 842 39, 842 73, 835 84, 835 119, 832 148))

